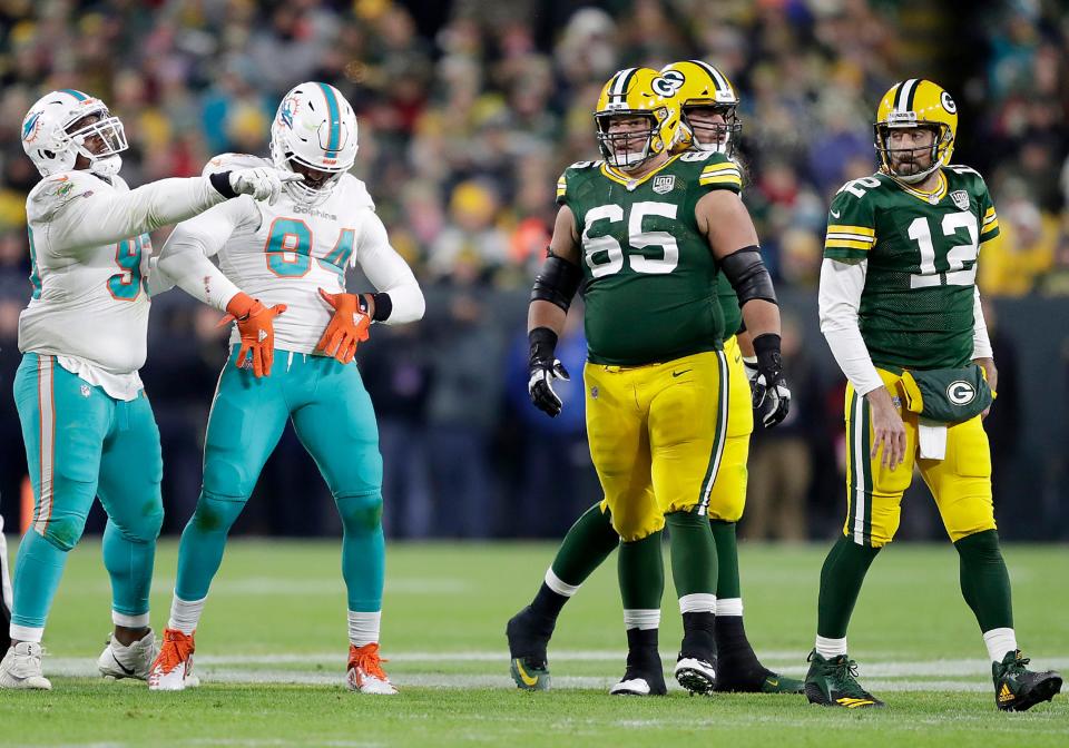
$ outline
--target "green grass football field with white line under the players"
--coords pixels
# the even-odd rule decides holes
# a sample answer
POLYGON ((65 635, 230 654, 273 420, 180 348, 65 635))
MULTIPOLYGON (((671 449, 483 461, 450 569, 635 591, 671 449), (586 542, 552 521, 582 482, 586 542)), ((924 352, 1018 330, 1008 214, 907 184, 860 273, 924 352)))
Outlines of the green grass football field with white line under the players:
MULTIPOLYGON (((1069 745, 1069 699, 994 709, 990 665, 958 591, 950 544, 885 551, 851 628, 861 681, 889 708, 847 712, 800 696, 618 698, 625 637, 615 563, 569 603, 550 649, 555 689, 508 676, 506 620, 533 593, 552 547, 392 545, 383 651, 394 698, 344 688, 337 543, 233 542, 197 633, 203 686, 149 693, 94 678, 110 627, 99 544, 70 558, 45 646, 51 692, 0 691, 2 746, 1038 746, 1069 745)), ((746 622, 766 665, 804 672, 820 547, 742 548, 746 622)), ((161 547, 153 619, 166 622, 176 547, 161 547)), ((1009 547, 1018 638, 1036 665, 1069 670, 1069 549, 1009 547)), ((661 653, 680 627, 665 596, 661 653)), ((674 686, 674 685, 673 685, 674 686)))

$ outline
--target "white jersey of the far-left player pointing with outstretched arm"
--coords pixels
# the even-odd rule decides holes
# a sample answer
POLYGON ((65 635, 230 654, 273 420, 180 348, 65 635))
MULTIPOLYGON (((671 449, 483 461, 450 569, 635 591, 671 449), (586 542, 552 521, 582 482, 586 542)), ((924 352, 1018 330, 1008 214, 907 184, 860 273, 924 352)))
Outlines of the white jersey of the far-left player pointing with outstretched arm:
POLYGON ((26 201, 33 295, 19 317, 19 351, 55 355, 110 396, 136 397, 148 333, 147 232, 223 199, 203 177, 134 190, 89 171, 42 179, 26 201))

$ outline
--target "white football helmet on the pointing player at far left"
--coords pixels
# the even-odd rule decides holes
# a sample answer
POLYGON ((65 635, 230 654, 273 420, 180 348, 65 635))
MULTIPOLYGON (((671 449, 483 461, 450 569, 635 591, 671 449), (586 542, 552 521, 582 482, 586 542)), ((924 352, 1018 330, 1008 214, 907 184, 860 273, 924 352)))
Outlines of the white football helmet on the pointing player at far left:
POLYGON ((111 177, 122 167, 119 154, 127 148, 126 132, 104 101, 72 88, 46 94, 22 120, 22 149, 42 177, 75 168, 78 156, 89 159, 89 171, 111 177), (89 115, 99 119, 71 130, 89 115), (90 150, 86 144, 94 147, 90 150))

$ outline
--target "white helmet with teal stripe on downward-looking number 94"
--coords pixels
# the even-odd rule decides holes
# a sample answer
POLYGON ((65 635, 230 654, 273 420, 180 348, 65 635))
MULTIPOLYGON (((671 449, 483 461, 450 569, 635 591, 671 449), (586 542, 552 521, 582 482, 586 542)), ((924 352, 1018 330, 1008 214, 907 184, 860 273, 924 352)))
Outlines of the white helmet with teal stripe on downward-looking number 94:
POLYGON ((328 83, 308 81, 282 99, 271 124, 271 158, 279 169, 294 163, 326 171, 318 186, 290 181, 285 189, 297 201, 317 205, 330 197, 342 175, 356 160, 356 115, 341 92, 328 83))

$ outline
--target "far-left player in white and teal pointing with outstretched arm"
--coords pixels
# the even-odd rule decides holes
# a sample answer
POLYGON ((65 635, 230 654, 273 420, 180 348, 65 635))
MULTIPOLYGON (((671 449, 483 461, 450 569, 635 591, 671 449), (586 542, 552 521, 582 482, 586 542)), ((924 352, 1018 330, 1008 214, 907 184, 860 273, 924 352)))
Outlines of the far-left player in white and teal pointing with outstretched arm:
POLYGON ((159 431, 138 376, 158 275, 149 273, 147 232, 239 195, 273 200, 295 177, 271 166, 232 168, 131 190, 118 175, 122 122, 75 89, 31 107, 22 147, 43 177, 26 201, 32 297, 19 319, 14 377, 35 503, 16 563, 0 688, 51 688, 41 675, 45 620, 96 495, 108 514, 115 623, 98 667, 144 679, 156 654, 148 592, 163 521, 159 431))

